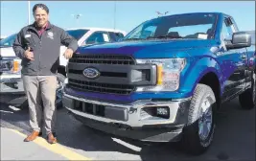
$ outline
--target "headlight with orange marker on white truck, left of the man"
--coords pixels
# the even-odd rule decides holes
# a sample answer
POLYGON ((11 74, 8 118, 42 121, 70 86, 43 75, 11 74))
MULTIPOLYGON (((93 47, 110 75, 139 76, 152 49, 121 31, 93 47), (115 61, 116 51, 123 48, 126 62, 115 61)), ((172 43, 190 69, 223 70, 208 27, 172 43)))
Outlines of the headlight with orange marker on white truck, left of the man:
POLYGON ((0 72, 6 74, 19 74, 21 71, 21 59, 1 59, 0 72))

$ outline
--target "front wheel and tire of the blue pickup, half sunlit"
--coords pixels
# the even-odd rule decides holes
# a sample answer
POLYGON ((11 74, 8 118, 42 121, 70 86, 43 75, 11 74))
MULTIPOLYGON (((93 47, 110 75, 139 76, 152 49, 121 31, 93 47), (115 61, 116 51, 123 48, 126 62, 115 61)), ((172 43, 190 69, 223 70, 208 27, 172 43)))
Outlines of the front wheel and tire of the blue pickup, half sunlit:
POLYGON ((215 109, 216 98, 211 87, 205 84, 198 84, 189 107, 188 124, 182 131, 181 146, 183 150, 190 154, 198 155, 211 146, 215 131, 215 109), (208 117, 207 115, 203 115, 202 117, 202 110, 204 110, 206 114, 209 114, 208 117), (201 126, 199 127, 199 125, 203 125, 201 123, 207 123, 202 122, 203 119, 205 120, 205 116, 208 118, 206 120, 208 120, 210 126, 200 128, 201 126), (208 132, 206 132, 203 137, 202 134, 199 134, 199 131, 202 131, 199 129, 208 129, 208 132))

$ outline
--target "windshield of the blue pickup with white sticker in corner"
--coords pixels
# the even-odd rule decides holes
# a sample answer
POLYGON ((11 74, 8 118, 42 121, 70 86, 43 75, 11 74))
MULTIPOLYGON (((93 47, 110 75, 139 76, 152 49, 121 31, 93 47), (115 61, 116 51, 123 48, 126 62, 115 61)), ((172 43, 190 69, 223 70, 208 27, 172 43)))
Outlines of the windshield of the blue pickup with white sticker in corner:
POLYGON ((215 24, 215 14, 194 13, 163 16, 142 23, 123 40, 146 40, 151 38, 211 39, 214 37, 215 24))

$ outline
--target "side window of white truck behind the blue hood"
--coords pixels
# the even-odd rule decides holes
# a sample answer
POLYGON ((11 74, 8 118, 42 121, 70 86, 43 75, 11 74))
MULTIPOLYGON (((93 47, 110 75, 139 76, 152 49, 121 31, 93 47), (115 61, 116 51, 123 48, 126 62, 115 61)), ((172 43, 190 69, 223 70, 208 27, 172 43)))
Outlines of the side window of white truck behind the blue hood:
POLYGON ((109 42, 109 36, 106 33, 103 32, 96 32, 94 34, 91 34, 85 44, 94 44, 94 43, 104 43, 109 42))

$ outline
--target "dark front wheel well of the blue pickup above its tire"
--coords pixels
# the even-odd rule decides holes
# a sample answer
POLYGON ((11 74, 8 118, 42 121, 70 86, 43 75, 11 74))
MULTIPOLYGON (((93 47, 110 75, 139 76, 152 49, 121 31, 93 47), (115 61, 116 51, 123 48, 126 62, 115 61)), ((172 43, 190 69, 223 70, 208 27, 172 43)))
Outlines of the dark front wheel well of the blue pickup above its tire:
POLYGON ((217 101, 217 109, 219 109, 221 107, 221 85, 216 74, 211 72, 204 75, 199 83, 209 85, 212 88, 217 101))

